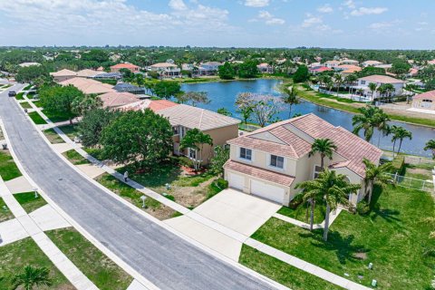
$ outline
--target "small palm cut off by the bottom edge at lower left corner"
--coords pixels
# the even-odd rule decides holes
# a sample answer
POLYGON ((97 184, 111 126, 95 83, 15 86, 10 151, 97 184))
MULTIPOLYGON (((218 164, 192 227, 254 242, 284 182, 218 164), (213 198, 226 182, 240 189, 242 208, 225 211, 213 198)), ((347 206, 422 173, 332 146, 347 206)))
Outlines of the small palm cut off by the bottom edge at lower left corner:
POLYGON ((51 286, 50 271, 46 267, 25 266, 22 273, 12 278, 14 289, 23 286, 25 290, 32 290, 34 286, 51 286))

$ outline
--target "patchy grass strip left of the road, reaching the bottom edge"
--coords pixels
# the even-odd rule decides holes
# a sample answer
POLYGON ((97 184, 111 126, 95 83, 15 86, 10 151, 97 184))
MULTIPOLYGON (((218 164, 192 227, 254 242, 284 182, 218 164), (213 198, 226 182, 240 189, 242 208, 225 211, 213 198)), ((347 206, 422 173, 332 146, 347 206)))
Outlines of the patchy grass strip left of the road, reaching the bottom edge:
POLYGON ((124 290, 133 278, 72 227, 46 232, 53 243, 100 289, 124 290))

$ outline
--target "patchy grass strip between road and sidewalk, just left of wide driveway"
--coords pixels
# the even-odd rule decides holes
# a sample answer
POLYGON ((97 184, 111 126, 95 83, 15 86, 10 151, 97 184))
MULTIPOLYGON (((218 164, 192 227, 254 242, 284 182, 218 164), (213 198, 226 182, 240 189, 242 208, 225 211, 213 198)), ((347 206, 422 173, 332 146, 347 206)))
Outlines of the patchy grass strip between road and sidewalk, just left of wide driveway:
POLYGON ((97 177, 96 180, 105 188, 111 189, 111 191, 119 195, 121 198, 126 199, 137 208, 146 211, 154 218, 163 220, 172 218, 177 214, 177 212, 172 208, 162 205, 159 201, 149 197, 145 200, 146 208, 142 208, 142 200, 140 197, 143 196, 143 193, 112 177, 109 173, 103 173, 101 176, 97 177))

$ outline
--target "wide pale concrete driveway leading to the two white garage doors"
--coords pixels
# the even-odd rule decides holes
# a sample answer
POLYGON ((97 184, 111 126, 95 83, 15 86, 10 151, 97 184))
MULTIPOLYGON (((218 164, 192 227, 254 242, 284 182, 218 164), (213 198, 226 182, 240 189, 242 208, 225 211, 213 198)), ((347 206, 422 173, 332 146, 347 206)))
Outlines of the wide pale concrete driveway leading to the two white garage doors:
POLYGON ((281 208, 274 202, 226 189, 186 216, 165 221, 170 227, 238 261, 243 242, 281 208), (203 217, 200 223, 192 215, 203 217))

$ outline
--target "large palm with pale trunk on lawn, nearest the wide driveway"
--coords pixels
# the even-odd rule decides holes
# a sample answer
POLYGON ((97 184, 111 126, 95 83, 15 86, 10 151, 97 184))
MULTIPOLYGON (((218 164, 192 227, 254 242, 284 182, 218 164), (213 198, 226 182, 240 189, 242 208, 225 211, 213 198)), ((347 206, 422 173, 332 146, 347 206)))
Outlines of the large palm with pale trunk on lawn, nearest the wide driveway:
POLYGON ((324 170, 314 180, 307 180, 297 185, 304 189, 305 195, 322 195, 326 202, 326 214, 324 217, 324 241, 328 240, 329 214, 339 204, 348 205, 348 195, 360 189, 359 184, 350 184, 345 181, 346 176, 337 174, 333 170, 324 170), (312 193, 308 193, 312 191, 312 193))

